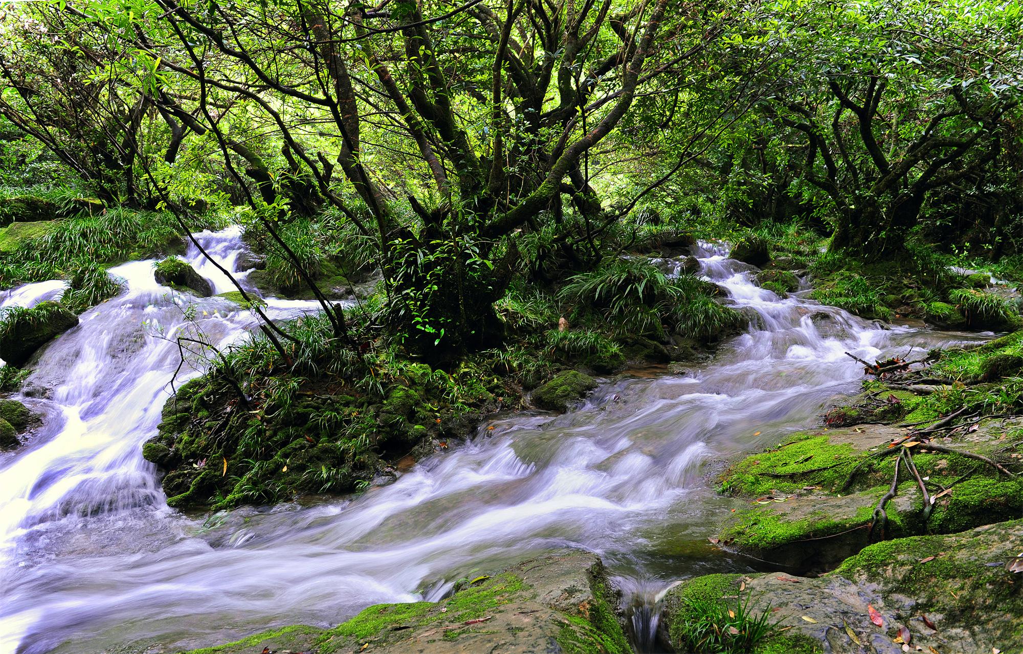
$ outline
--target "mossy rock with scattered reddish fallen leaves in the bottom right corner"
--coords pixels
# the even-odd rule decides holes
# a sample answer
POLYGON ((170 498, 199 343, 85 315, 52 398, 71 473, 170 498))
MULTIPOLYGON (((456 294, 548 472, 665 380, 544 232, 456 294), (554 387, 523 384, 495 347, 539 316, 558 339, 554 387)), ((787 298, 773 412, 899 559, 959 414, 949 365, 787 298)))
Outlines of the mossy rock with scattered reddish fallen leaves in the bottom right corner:
MULTIPOLYGON (((680 640, 691 600, 731 606, 742 596, 751 598, 755 614, 768 612, 786 628, 779 636, 836 654, 901 652, 893 642, 901 626, 909 630, 913 651, 1014 651, 1023 629, 1023 585, 1006 563, 1020 552, 1023 520, 1014 520, 955 535, 878 543, 818 578, 788 572, 696 577, 665 597, 663 635, 680 640), (869 606, 882 625, 871 621, 869 606)), ((809 651, 797 644, 769 651, 809 651)))

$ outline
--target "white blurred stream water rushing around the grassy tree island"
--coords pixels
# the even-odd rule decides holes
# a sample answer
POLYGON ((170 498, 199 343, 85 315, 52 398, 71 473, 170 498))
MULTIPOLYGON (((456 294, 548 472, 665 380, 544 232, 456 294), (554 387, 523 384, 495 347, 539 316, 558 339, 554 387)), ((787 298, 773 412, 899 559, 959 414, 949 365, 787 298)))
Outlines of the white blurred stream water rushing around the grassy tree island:
MULTIPOLYGON (((234 268, 236 230, 199 239, 234 268)), ((175 380, 176 337, 222 347, 255 319, 159 285, 151 261, 113 269, 124 292, 83 314, 35 364, 25 402, 43 426, 0 453, 0 654, 128 643, 175 651, 278 624, 333 624, 373 603, 439 599, 459 577, 561 547, 604 557, 634 641, 649 647, 656 598, 672 579, 755 564, 707 542, 733 506, 713 488, 721 461, 815 424, 830 401, 854 392, 862 370, 845 352, 873 359, 968 338, 882 328, 805 292, 781 299, 723 250, 696 254, 750 317, 713 360, 679 374, 637 371, 562 416, 498 417, 354 500, 212 517, 168 509, 141 448, 172 380, 199 373, 185 365, 175 380)), ((232 288, 196 250, 188 259, 217 292, 232 288)), ((29 284, 0 306, 62 288, 29 284)), ((284 319, 316 308, 271 298, 267 311, 284 319)))

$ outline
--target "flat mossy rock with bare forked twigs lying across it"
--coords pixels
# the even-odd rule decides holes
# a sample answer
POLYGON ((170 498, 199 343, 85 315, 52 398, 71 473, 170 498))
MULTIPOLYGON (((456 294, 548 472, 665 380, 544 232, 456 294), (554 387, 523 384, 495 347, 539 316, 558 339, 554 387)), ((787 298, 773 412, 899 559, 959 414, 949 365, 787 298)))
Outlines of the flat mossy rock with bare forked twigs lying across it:
MULTIPOLYGON (((905 419, 913 421, 914 414, 905 419)), ((982 426, 969 442, 949 447, 1010 456, 998 437, 1005 428, 982 426)), ((904 430, 876 424, 821 429, 792 434, 746 458, 722 475, 721 484, 748 501, 748 508, 727 514, 714 535, 732 550, 806 573, 830 569, 879 539, 950 533, 1023 513, 1023 484, 1017 479, 978 469, 976 461, 959 455, 918 452, 914 460, 921 476, 931 484, 955 481, 954 491, 925 511, 917 482, 903 474, 886 518, 876 522, 874 509, 889 492, 897 461, 878 453, 903 435, 904 430)))

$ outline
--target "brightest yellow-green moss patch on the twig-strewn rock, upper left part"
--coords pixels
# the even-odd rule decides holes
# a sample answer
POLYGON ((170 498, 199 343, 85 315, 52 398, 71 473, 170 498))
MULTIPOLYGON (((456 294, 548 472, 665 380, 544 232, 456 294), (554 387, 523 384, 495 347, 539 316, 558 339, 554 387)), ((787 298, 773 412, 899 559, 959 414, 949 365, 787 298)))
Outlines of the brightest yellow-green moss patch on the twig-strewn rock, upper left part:
POLYGON ((827 435, 800 432, 789 440, 736 464, 722 476, 722 489, 749 496, 794 492, 805 485, 834 491, 858 463, 850 443, 834 443, 827 435))

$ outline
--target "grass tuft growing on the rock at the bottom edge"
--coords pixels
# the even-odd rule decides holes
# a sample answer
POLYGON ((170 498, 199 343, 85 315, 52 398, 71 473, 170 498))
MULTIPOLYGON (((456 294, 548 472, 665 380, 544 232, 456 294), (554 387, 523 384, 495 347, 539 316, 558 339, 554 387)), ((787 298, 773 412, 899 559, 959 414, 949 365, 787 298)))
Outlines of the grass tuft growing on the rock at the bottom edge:
POLYGON ((706 597, 684 598, 685 613, 671 625, 671 641, 680 652, 731 654, 751 652, 771 636, 776 622, 768 619, 770 607, 753 610, 752 594, 738 597, 735 605, 706 597))

